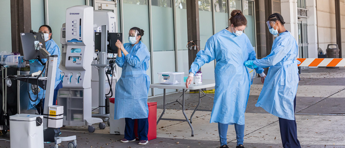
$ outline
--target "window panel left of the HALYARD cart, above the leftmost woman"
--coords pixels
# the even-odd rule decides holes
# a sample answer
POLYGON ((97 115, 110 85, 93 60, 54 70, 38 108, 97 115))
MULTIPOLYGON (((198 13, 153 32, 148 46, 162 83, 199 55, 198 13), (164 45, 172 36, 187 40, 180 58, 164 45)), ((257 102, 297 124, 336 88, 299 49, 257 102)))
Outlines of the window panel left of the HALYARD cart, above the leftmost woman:
POLYGON ((60 49, 60 31, 62 24, 66 22, 66 9, 72 6, 85 4, 85 0, 48 0, 49 26, 52 30, 52 39, 60 49))

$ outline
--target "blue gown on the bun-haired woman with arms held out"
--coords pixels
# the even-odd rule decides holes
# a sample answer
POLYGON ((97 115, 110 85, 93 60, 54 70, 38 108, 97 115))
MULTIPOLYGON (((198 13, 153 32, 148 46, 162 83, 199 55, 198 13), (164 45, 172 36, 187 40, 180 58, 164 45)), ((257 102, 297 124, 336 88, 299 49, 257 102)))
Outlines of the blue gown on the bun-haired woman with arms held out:
MULTIPOLYGON (((210 123, 245 124, 250 74, 244 66, 247 60, 255 60, 255 51, 247 35, 236 36, 223 29, 211 36, 191 64, 189 72, 196 73, 201 66, 216 59, 215 97, 210 123)), ((255 69, 262 73, 262 68, 255 69)))

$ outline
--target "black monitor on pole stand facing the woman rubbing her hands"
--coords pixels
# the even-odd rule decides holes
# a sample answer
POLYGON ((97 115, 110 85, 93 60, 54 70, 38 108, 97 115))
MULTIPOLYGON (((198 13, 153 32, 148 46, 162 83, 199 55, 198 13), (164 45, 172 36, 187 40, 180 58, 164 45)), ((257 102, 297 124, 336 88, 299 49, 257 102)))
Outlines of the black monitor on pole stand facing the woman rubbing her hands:
MULTIPOLYGON (((102 33, 95 32, 95 52, 96 50, 98 50, 98 52, 103 52, 101 49, 101 36, 102 33)), ((122 44, 124 43, 122 33, 108 33, 108 53, 117 54, 118 48, 115 45, 117 40, 120 40, 122 44)))

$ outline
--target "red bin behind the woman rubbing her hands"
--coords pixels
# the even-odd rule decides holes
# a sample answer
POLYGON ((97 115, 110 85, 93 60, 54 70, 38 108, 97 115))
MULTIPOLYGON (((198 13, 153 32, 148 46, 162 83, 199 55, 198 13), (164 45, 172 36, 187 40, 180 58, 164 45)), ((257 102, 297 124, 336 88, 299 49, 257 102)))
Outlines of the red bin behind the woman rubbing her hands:
MULTIPOLYGON (((148 140, 157 138, 157 102, 147 102, 149 106, 149 131, 147 133, 148 140)), ((138 122, 134 123, 135 137, 138 137, 138 122)))

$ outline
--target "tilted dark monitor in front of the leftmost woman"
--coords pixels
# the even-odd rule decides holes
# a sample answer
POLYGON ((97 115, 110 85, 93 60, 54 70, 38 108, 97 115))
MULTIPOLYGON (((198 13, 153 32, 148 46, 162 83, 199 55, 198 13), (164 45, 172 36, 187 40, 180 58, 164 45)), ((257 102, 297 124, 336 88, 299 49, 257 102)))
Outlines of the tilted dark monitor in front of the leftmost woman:
POLYGON ((20 39, 25 60, 47 58, 46 56, 42 55, 39 50, 40 48, 46 48, 43 33, 20 33, 20 39))

